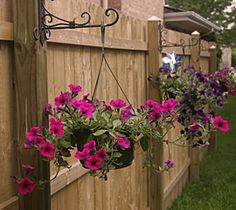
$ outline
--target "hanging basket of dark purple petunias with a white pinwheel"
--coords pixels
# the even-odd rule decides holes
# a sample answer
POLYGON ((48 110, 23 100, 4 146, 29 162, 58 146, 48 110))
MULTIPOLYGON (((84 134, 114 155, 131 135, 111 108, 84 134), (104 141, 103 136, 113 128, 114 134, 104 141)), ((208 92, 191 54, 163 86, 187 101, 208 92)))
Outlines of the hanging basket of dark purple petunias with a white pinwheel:
POLYGON ((228 94, 235 92, 235 69, 223 69, 208 75, 198 69, 187 67, 180 71, 175 55, 163 58, 160 78, 156 81, 163 93, 163 99, 176 98, 180 101, 178 122, 180 145, 208 145, 209 134, 219 129, 229 130, 228 122, 215 116, 217 108, 223 108, 228 94), (175 65, 176 64, 176 65, 175 65), (182 141, 184 140, 184 141, 182 141))

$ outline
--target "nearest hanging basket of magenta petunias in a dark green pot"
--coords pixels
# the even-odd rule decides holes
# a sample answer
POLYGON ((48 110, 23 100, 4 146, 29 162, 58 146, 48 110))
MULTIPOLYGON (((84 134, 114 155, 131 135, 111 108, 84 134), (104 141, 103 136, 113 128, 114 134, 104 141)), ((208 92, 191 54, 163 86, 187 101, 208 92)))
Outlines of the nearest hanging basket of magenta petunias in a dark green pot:
MULTIPOLYGON (((111 100, 109 104, 91 100, 89 94, 78 99, 81 87, 71 84, 69 88, 70 91, 61 92, 55 98, 54 107, 45 106, 49 128, 31 128, 24 144, 25 149, 36 149, 43 160, 53 161, 59 168, 70 167, 67 158, 73 154, 91 175, 106 180, 110 170, 132 164, 136 144, 147 151, 153 139, 163 140, 160 128, 169 130, 176 120, 179 105, 176 99, 163 104, 147 100, 139 109, 134 109, 121 99, 111 100)), ((168 162, 155 170, 171 167, 173 163, 168 162)), ((38 185, 45 183, 32 173, 27 172, 17 182, 27 181, 28 177, 38 185)))

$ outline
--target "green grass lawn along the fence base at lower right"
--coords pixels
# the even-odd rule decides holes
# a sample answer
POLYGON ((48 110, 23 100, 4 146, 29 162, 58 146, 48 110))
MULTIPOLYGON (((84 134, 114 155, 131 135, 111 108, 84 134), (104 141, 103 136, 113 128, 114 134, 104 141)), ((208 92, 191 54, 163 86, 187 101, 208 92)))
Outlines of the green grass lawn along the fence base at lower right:
POLYGON ((236 210, 236 97, 218 114, 231 130, 217 134, 217 149, 205 155, 200 180, 188 183, 170 210, 236 210))

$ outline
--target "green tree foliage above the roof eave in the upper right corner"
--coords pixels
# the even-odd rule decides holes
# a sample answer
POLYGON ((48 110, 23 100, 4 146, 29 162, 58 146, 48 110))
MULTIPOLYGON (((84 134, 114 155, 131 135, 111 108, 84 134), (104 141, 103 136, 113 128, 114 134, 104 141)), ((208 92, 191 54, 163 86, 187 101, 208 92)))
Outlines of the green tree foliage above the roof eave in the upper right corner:
POLYGON ((211 35, 209 41, 216 41, 220 45, 235 46, 236 43, 236 26, 228 30, 228 26, 236 22, 236 8, 232 11, 226 10, 232 0, 168 0, 170 6, 194 11, 208 20, 218 24, 223 28, 219 36, 211 35))

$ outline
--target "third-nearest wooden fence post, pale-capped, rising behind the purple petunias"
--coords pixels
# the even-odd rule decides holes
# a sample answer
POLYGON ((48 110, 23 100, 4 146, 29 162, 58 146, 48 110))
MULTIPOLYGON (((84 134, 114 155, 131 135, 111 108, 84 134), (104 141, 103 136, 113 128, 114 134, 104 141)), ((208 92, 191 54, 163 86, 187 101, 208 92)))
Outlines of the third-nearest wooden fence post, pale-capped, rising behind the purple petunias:
MULTIPOLYGON (((191 41, 190 44, 196 43, 196 40, 198 41, 197 45, 191 46, 191 65, 195 69, 200 69, 200 33, 198 31, 194 31, 191 34, 191 41)), ((190 179, 198 179, 199 178, 199 164, 200 164, 200 148, 189 148, 190 153, 190 179)))

